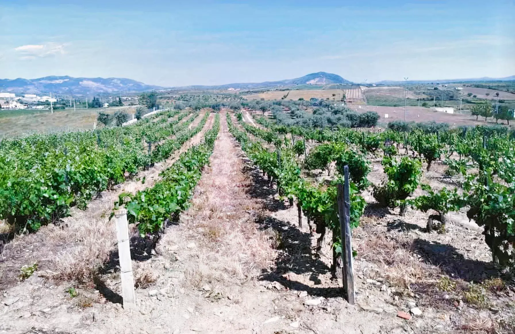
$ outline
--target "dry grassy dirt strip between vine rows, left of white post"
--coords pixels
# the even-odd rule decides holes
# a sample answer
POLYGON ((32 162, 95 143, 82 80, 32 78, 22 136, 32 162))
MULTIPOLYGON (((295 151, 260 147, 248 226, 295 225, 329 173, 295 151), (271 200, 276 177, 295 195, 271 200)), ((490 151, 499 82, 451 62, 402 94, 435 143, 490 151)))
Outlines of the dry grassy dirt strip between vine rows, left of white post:
MULTIPOLYGON (((189 127, 197 126, 204 114, 205 111, 200 113, 189 127)), ((35 262, 40 271, 48 270, 47 275, 57 279, 73 280, 88 276, 90 268, 95 263, 101 263, 113 249, 114 225, 108 223, 108 217, 118 195, 152 187, 160 179, 159 173, 172 165, 182 152, 200 143, 213 121, 214 114, 210 115, 202 131, 186 141, 168 159, 140 171, 112 190, 101 192, 89 202, 86 210, 72 208, 71 215, 62 219, 61 226, 49 224, 37 233, 15 236, 0 254, 0 289, 16 285, 20 268, 35 262), (145 183, 142 182, 143 178, 145 183)))

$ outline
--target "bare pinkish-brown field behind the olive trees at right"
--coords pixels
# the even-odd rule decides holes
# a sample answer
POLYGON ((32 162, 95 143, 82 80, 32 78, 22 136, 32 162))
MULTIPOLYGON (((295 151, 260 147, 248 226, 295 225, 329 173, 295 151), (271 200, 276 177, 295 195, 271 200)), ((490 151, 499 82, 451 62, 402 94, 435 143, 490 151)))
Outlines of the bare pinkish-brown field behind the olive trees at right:
MULTIPOLYGON (((404 120, 404 107, 385 107, 385 106, 374 106, 374 105, 349 105, 350 108, 357 112, 366 112, 368 110, 376 112, 381 117, 379 124, 387 124, 394 120, 404 120), (385 118, 385 114, 388 114, 388 118, 385 118)), ((476 121, 475 116, 469 114, 445 114, 442 112, 435 112, 435 110, 424 107, 410 107, 406 108, 406 121, 408 122, 429 122, 435 121, 437 123, 449 123, 451 126, 459 125, 485 125, 495 124, 493 119, 488 119, 485 123, 484 118, 476 121)), ((499 121, 501 124, 503 121, 499 121)))

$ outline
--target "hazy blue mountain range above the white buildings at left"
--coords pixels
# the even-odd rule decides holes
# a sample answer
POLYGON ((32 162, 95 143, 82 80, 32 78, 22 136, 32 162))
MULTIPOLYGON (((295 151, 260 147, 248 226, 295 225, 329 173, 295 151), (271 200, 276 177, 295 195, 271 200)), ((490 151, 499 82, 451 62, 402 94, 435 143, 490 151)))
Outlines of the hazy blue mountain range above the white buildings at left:
POLYGON ((48 94, 49 92, 66 95, 114 94, 124 90, 139 92, 152 89, 163 89, 163 87, 125 78, 50 76, 39 79, 0 79, 0 91, 26 94, 48 94))

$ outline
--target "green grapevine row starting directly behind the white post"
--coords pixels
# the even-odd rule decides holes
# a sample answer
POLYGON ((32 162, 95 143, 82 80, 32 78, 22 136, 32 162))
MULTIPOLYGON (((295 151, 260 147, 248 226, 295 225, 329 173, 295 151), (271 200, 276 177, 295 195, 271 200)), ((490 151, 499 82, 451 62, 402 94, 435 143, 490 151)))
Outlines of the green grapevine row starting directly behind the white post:
POLYGON ((202 169, 209 162, 219 128, 217 114, 213 127, 204 135, 204 142, 182 153, 173 165, 161 172, 162 179, 152 188, 119 195, 115 208, 124 206, 129 223, 137 224, 142 235, 158 233, 167 220, 188 207, 202 169))

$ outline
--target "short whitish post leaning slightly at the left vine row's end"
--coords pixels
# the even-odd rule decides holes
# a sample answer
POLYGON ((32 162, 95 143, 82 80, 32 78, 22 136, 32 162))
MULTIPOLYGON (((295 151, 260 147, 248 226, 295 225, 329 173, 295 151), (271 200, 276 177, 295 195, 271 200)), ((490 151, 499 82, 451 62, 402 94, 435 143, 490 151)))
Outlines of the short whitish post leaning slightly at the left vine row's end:
POLYGON ((134 293, 134 277, 129 247, 129 225, 127 224, 127 210, 114 211, 116 236, 118 238, 118 257, 120 259, 120 276, 122 279, 122 297, 124 308, 134 308, 136 295, 134 293))

